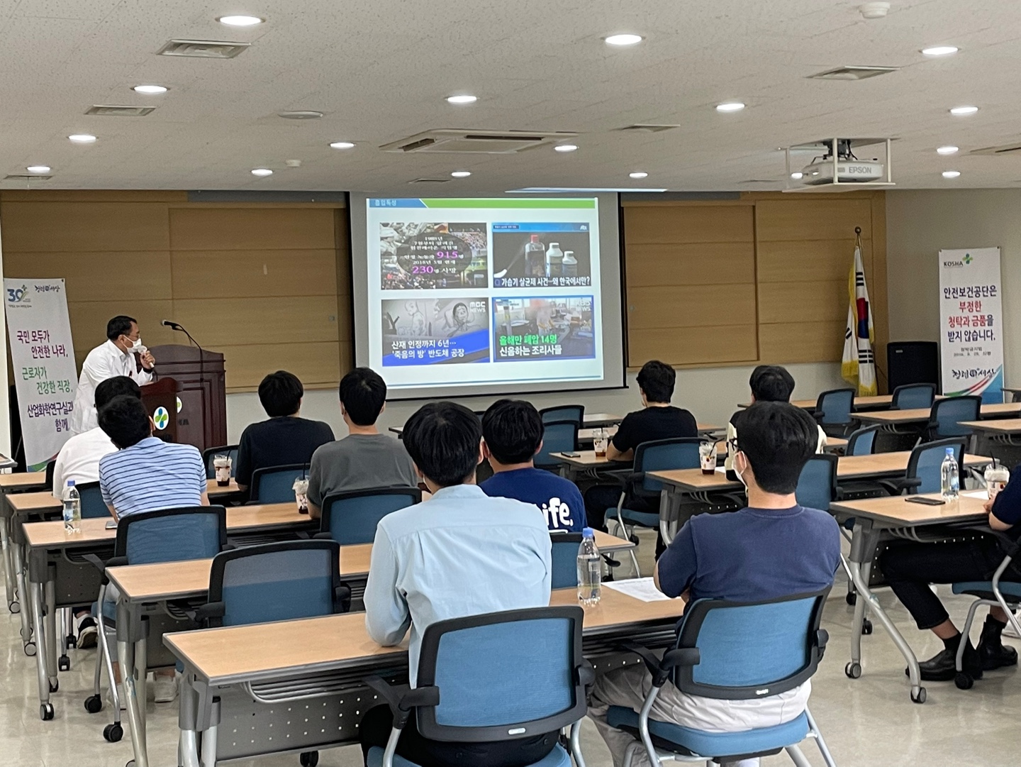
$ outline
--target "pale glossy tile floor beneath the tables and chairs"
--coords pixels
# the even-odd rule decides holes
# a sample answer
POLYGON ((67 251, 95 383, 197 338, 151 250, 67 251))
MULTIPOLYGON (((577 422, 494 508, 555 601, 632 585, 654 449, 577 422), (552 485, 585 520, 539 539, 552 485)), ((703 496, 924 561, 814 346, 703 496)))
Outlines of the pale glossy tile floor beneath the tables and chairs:
MULTIPOLYGON (((643 538, 643 553, 652 550, 643 538)), ((644 562, 643 566, 648 567, 644 562)), ((650 571, 650 569, 649 569, 650 571)), ((940 589, 944 594, 946 589, 940 589)), ((922 658, 939 649, 928 633, 914 628, 907 612, 888 589, 881 592, 897 626, 922 658)), ((852 609, 843 600, 842 580, 833 588, 824 626, 830 633, 826 658, 814 679, 812 711, 840 767, 956 767, 1021 766, 1021 679, 1015 669, 987 673, 973 689, 962 691, 953 682, 929 683, 928 702, 918 706, 908 698, 904 662, 881 628, 863 637, 865 671, 847 679, 843 666, 849 652, 852 609)), ((955 619, 963 620, 969 601, 947 601, 955 619)), ((0 765, 17 767, 121 767, 132 758, 126 734, 119 744, 107 744, 103 726, 108 712, 90 715, 83 701, 91 693, 95 651, 75 651, 72 669, 60 674, 60 689, 52 700, 56 718, 39 719, 35 659, 21 651, 18 619, 0 608, 0 665, 5 684, 0 691, 0 765)), ((977 628, 976 628, 977 632, 977 628)), ((127 729, 127 723, 126 723, 127 729)), ((149 704, 149 755, 154 767, 177 763, 177 706, 149 704)), ((583 751, 590 767, 609 767, 609 753, 594 728, 586 722, 583 751)), ((814 765, 822 760, 811 742, 804 751, 814 765)), ((357 748, 323 752, 323 767, 356 767, 357 748)), ((296 755, 240 763, 255 767, 296 767, 296 755)), ((784 756, 764 760, 766 767, 790 764, 784 756)), ((484 767, 484 766, 480 766, 484 767)))

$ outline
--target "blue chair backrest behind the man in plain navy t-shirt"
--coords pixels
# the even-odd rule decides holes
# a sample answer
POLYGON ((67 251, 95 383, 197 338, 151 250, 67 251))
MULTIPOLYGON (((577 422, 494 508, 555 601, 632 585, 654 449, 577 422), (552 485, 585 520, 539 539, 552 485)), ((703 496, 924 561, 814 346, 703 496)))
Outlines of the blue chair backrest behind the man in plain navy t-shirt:
POLYGON ((766 602, 696 600, 684 611, 678 648, 696 648, 696 665, 678 666, 684 692, 723 700, 775 696, 816 672, 826 646, 819 628, 829 588, 766 602))

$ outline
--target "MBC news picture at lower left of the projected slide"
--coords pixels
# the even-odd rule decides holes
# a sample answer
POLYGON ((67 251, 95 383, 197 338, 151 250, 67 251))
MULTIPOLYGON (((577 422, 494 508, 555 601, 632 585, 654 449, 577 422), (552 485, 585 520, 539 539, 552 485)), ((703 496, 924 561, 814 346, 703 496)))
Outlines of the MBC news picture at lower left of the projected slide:
POLYGON ((383 301, 383 367, 489 362, 489 300, 383 301))

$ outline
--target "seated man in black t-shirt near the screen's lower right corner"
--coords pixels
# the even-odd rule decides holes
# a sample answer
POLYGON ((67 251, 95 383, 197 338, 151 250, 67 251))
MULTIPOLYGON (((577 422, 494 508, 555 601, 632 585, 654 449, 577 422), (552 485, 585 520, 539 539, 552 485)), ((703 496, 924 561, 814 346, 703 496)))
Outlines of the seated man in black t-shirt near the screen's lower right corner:
MULTIPOLYGON (((694 416, 670 403, 676 380, 677 373, 666 363, 652 359, 642 366, 637 381, 643 409, 625 416, 617 434, 606 446, 607 459, 633 461, 635 447, 642 442, 698 436, 694 416)), ((588 488, 585 491, 585 515, 588 517, 589 527, 605 530, 606 510, 617 506, 620 496, 620 485, 595 485, 588 488)), ((642 512, 657 511, 640 498, 630 500, 628 508, 642 512)), ((660 547, 662 544, 658 546, 660 547)))

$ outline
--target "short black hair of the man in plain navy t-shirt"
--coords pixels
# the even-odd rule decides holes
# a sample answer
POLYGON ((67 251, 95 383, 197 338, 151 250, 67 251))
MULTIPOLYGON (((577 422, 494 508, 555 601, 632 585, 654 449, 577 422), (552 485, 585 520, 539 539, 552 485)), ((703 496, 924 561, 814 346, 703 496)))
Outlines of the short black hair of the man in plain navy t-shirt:
POLYGON ((737 449, 744 453, 766 492, 787 494, 819 443, 819 426, 787 402, 755 402, 741 414, 737 449))

